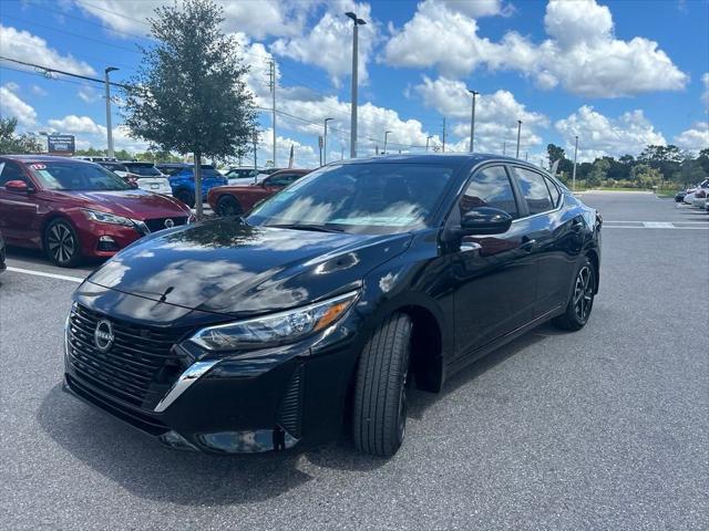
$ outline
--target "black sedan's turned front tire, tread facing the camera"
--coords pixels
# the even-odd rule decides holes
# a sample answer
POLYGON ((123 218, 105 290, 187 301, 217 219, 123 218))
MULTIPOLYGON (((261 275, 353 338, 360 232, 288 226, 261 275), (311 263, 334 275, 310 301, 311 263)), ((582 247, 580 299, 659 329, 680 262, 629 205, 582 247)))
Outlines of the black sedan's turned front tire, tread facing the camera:
POLYGON ((352 409, 354 447, 393 456, 405 435, 411 320, 390 315, 367 342, 359 361, 352 409))

